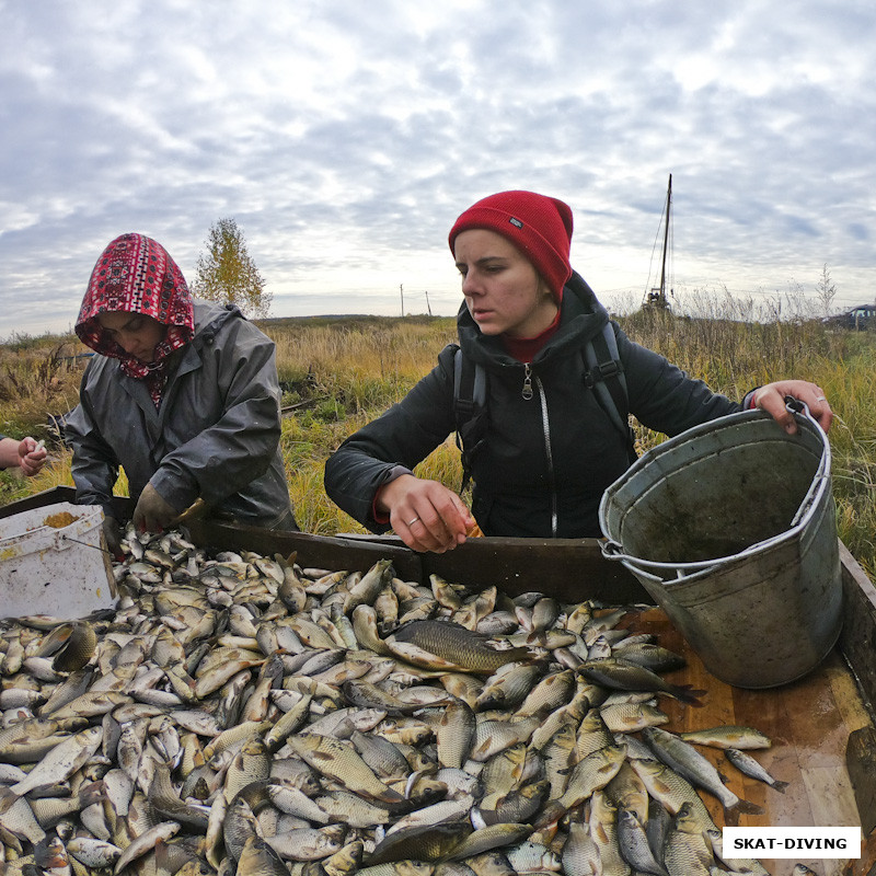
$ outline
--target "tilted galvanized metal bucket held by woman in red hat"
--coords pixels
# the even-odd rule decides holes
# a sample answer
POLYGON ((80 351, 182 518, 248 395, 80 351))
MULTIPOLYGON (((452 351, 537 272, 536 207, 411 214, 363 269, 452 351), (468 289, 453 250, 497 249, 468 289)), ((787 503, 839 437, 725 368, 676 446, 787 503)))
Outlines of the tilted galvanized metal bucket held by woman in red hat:
POLYGON ((664 608, 712 675, 739 688, 805 676, 842 626, 830 445, 750 411, 645 453, 602 497, 602 552, 664 608))

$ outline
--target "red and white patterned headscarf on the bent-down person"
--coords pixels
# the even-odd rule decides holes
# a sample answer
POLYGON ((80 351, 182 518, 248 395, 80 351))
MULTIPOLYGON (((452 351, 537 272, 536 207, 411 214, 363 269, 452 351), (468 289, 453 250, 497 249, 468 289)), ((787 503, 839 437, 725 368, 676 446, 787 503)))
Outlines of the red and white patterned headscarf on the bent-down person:
POLYGON ((194 325, 192 296, 176 262, 158 241, 143 234, 122 234, 103 251, 91 272, 76 333, 93 350, 119 359, 126 374, 146 380, 158 405, 166 357, 192 339, 194 325), (153 362, 141 362, 105 335, 97 314, 115 311, 142 313, 168 326, 153 362))

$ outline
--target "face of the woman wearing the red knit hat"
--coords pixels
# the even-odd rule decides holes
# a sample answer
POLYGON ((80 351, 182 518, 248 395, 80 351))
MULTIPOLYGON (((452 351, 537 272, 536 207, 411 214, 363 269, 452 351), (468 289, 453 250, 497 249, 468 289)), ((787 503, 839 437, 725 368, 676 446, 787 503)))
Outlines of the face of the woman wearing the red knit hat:
POLYGON ((469 313, 485 335, 535 337, 556 316, 557 306, 532 263, 510 241, 482 228, 453 242, 469 313))

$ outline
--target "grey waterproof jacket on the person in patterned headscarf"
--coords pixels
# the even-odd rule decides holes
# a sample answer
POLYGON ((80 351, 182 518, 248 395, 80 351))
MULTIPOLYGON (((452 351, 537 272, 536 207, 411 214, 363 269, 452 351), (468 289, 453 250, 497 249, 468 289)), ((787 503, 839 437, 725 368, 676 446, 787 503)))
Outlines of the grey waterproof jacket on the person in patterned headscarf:
POLYGON ((195 336, 176 353, 157 410, 141 380, 96 355, 67 417, 77 502, 106 506, 119 466, 129 495, 147 483, 184 510, 296 528, 279 450, 275 346, 233 307, 195 301, 195 336))

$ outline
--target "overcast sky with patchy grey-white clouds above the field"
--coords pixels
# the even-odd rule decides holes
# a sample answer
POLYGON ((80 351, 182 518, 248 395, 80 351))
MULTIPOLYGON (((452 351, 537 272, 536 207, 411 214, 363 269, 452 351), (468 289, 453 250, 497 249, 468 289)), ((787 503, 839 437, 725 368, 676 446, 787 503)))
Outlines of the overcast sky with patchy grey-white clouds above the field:
POLYGON ((474 200, 575 215, 638 302, 876 296, 872 0, 0 0, 0 338, 72 326, 116 235, 195 278, 231 217, 272 315, 454 313, 474 200))

